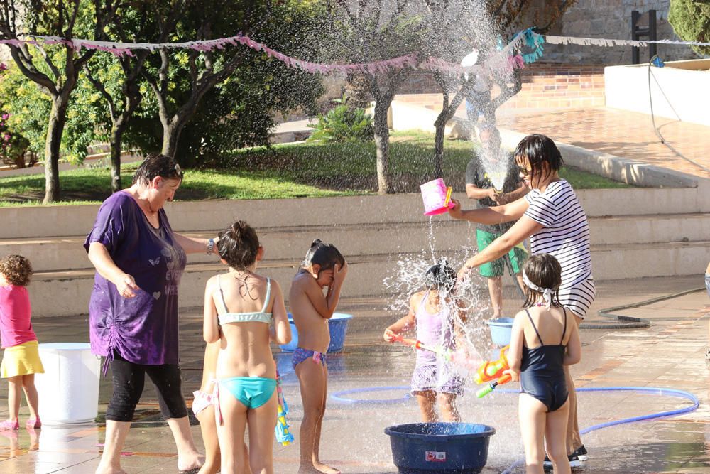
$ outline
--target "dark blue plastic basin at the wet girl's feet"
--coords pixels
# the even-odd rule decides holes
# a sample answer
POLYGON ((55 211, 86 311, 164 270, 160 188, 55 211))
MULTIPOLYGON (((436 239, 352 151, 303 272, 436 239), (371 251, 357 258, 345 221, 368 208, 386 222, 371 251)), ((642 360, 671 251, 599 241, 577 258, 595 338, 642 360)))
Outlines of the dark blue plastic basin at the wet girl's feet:
POLYGON ((393 462, 403 474, 480 473, 495 433, 493 426, 474 423, 411 423, 385 429, 393 462))

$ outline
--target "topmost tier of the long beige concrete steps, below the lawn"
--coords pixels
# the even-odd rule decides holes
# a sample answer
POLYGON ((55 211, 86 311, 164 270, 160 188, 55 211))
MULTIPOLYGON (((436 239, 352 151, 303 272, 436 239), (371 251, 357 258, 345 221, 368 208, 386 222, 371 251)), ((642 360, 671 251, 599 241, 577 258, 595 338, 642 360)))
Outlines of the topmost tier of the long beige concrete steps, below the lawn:
MULTIPOLYGON (((701 188, 583 189, 577 190, 577 195, 589 217, 710 212, 710 200, 701 188)), ((466 203, 464 208, 472 207, 464 193, 454 193, 454 198, 466 203)), ((98 210, 99 205, 0 208, 0 239, 86 235, 98 210)), ((200 201, 170 203, 165 210, 170 225, 178 232, 223 229, 236 219, 244 219, 256 228, 424 224, 429 220, 422 215, 419 194, 200 201)))

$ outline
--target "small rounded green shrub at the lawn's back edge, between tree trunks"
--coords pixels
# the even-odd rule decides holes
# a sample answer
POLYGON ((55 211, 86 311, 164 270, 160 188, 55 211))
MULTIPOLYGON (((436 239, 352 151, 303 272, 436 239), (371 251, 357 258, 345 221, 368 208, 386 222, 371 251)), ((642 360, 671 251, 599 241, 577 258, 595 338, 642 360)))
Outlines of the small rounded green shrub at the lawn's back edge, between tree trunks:
POLYGON ((318 123, 308 141, 342 142, 370 141, 374 136, 372 117, 365 109, 350 107, 345 97, 334 99, 337 106, 327 114, 318 114, 318 123))

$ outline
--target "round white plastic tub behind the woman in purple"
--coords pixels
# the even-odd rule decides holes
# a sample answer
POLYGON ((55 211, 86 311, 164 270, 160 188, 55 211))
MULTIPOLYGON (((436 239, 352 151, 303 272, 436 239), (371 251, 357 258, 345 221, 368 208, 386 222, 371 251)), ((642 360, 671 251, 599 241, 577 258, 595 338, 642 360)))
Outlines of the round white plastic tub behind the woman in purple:
POLYGON ((46 425, 88 423, 99 412, 99 357, 88 343, 39 345, 45 373, 35 375, 40 419, 46 425))

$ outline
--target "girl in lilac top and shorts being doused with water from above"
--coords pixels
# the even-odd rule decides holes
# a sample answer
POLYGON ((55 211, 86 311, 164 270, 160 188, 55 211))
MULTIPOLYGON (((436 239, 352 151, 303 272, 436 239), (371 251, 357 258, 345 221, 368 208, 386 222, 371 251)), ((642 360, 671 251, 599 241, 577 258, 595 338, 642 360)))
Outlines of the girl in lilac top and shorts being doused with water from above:
MULTIPOLYGON (((384 340, 394 342, 396 336, 416 328, 417 340, 425 345, 452 351, 457 346, 464 348, 461 324, 466 321, 466 315, 452 298, 456 271, 446 259, 441 259, 426 271, 424 284, 425 290, 410 297, 407 316, 385 330, 384 340)), ((412 394, 417 397, 425 423, 439 421, 437 402, 444 421, 461 421, 456 399, 464 394, 464 381, 450 362, 440 360, 434 352, 417 350, 412 394)))

